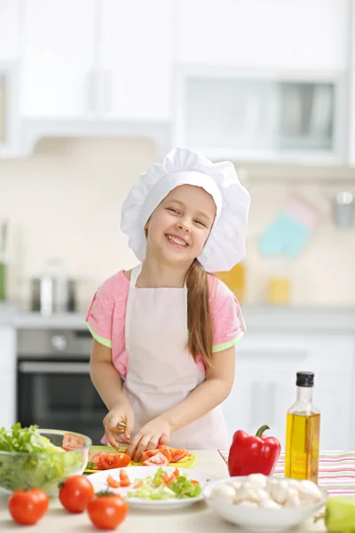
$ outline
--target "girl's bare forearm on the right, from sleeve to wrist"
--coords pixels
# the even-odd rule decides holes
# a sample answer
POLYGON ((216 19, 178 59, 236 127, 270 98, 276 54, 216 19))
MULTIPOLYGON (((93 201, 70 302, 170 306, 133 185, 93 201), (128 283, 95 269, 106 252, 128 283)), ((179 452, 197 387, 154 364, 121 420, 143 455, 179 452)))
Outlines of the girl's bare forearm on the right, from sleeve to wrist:
POLYGON ((235 346, 213 354, 214 366, 206 370, 206 381, 186 398, 162 413, 171 431, 177 431, 214 409, 231 392, 234 381, 235 346))

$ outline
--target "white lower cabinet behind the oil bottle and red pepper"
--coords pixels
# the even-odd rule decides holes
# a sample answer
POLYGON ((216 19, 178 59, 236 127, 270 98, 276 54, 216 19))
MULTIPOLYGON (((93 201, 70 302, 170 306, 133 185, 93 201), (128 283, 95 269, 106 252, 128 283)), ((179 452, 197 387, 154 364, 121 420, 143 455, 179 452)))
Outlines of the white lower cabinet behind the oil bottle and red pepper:
POLYGON ((296 372, 315 374, 321 449, 355 446, 351 434, 355 397, 355 342, 351 335, 248 335, 237 347, 233 391, 223 404, 231 434, 255 434, 267 424, 285 449, 286 413, 296 400, 296 372), (336 428, 336 429, 335 429, 336 428))

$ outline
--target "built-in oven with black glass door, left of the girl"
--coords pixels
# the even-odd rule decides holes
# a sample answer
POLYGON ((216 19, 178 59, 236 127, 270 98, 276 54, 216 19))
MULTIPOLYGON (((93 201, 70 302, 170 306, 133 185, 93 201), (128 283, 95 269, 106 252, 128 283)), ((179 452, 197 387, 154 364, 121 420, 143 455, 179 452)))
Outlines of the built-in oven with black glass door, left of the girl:
POLYGON ((99 444, 107 414, 90 378, 87 330, 18 330, 17 419, 91 437, 99 444))

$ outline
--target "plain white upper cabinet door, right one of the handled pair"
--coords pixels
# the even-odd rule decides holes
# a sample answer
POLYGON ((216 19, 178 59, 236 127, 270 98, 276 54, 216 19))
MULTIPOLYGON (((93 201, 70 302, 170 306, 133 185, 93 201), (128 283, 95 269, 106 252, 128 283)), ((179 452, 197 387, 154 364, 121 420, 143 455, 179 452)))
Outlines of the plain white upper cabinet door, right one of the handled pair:
POLYGON ((99 109, 106 119, 169 119, 172 4, 102 0, 99 109))

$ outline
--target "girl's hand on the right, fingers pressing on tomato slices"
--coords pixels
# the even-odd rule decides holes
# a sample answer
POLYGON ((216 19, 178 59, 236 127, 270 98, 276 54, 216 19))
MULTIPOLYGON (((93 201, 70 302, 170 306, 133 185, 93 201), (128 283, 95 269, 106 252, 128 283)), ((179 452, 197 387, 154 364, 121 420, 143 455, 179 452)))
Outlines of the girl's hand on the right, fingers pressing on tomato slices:
POLYGON ((156 449, 159 444, 168 444, 170 441, 170 424, 162 417, 157 417, 140 428, 138 434, 130 439, 126 450, 133 461, 138 462, 145 449, 156 449))

